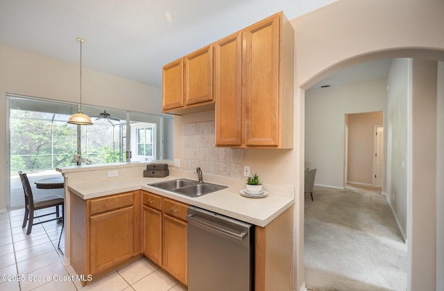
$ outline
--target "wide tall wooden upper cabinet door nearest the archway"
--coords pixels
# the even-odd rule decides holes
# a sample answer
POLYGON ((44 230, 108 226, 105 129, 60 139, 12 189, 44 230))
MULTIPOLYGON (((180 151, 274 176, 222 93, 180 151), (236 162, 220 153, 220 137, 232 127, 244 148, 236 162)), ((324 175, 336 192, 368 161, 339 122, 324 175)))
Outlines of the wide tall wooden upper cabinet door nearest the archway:
POLYGON ((280 21, 246 28, 246 145, 279 145, 280 21))

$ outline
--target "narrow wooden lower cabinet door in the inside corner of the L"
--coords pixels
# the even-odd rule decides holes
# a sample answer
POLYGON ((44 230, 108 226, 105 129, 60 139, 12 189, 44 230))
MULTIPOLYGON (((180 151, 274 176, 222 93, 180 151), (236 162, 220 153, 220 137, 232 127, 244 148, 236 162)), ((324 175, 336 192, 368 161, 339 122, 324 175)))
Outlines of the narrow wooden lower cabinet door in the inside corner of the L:
POLYGON ((142 252, 162 265, 162 211, 144 206, 142 215, 142 252))

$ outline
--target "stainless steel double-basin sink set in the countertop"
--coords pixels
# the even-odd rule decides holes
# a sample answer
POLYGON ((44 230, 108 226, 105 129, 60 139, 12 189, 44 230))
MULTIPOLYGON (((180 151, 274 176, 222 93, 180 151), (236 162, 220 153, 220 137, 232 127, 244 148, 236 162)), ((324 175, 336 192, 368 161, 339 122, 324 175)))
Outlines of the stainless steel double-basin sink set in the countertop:
POLYGON ((190 179, 175 179, 148 184, 156 188, 161 188, 167 191, 173 191, 188 197, 199 197, 205 194, 213 193, 227 186, 212 184, 212 183, 199 183, 198 181, 190 179))

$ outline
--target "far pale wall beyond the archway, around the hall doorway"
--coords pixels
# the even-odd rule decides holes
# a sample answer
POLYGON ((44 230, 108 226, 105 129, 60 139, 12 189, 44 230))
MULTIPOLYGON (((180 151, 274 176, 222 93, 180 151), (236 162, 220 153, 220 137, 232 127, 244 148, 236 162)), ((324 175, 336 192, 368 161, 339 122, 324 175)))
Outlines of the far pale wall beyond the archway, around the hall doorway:
POLYGON ((305 168, 316 184, 343 188, 345 114, 384 111, 386 78, 305 91, 305 168))

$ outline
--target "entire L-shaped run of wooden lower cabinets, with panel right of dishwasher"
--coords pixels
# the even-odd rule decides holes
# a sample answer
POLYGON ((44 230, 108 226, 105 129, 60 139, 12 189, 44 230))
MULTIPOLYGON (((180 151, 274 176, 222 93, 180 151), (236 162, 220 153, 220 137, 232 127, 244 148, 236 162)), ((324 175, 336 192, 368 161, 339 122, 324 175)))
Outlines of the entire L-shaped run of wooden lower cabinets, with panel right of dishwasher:
MULTIPOLYGON (((188 204, 147 191, 90 200, 70 193, 70 198, 76 274, 97 279, 143 252, 188 284, 188 204)), ((255 290, 292 290, 292 284, 293 206, 266 227, 255 227, 255 290)))

